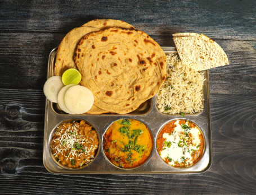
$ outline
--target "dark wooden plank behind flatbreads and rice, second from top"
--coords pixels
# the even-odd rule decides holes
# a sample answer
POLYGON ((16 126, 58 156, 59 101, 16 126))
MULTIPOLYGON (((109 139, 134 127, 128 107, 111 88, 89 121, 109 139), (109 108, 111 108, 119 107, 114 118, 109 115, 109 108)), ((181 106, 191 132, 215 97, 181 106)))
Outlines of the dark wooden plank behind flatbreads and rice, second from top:
MULTIPOLYGON (((51 33, 0 33, 1 87, 43 89, 48 55, 64 36, 51 33)), ((174 46, 170 35, 152 38, 162 46, 174 46)), ((210 91, 219 94, 256 94, 256 42, 215 41, 227 53, 230 65, 210 70, 210 91)))

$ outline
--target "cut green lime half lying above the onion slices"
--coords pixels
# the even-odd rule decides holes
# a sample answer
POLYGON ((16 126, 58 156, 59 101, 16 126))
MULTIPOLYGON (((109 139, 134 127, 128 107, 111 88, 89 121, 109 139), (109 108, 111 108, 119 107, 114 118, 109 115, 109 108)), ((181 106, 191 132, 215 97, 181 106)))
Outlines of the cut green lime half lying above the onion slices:
POLYGON ((77 69, 69 68, 63 73, 61 80, 64 85, 77 85, 81 81, 81 78, 82 76, 77 69))

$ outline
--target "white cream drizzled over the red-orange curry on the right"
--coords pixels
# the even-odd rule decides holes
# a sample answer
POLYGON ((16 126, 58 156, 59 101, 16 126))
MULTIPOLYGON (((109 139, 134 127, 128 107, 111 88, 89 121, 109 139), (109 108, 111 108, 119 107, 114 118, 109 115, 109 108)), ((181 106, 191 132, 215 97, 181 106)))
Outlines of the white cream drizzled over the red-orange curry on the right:
POLYGON ((163 133, 163 138, 165 138, 166 144, 163 147, 163 150, 160 151, 160 156, 162 159, 165 159, 167 157, 168 159, 171 159, 171 161, 169 162, 169 165, 172 165, 172 166, 174 166, 174 162, 178 162, 178 163, 186 162, 185 164, 189 164, 189 163, 191 164, 192 152, 199 150, 199 147, 198 147, 200 145, 199 135, 201 134, 201 132, 197 127, 190 128, 189 130, 186 129, 186 131, 191 134, 191 138, 192 138, 192 144, 187 144, 186 146, 184 143, 184 140, 186 141, 190 137, 185 135, 185 129, 183 129, 182 126, 179 124, 179 120, 176 120, 174 124, 176 124, 176 127, 174 128, 174 131, 171 134, 163 133), (171 146, 169 142, 172 143, 171 146), (169 147, 167 146, 168 143, 169 143, 168 145, 169 147))

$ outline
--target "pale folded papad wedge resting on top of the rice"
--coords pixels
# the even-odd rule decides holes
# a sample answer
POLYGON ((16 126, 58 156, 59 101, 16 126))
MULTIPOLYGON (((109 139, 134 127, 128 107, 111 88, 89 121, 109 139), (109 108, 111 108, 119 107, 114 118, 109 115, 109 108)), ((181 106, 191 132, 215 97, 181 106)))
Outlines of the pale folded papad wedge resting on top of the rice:
POLYGON ((208 36, 191 32, 176 33, 173 40, 182 62, 196 71, 229 64, 226 53, 208 36))

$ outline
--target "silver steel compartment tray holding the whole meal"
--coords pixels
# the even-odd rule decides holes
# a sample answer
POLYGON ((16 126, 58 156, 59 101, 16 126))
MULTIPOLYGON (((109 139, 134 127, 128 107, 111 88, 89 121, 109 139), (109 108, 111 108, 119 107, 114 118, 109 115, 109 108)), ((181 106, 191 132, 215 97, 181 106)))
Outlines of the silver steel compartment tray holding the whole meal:
MULTIPOLYGON (((162 47, 166 54, 176 52, 174 47, 162 47)), ((48 75, 53 76, 53 67, 55 63, 57 48, 53 49, 49 55, 48 75)), ((155 96, 143 103, 140 108, 129 114, 65 114, 57 107, 57 104, 51 103, 46 99, 46 113, 44 120, 44 145, 43 145, 43 164, 51 173, 59 174, 181 174, 181 173, 203 173, 210 168, 212 163, 212 140, 210 132, 210 97, 209 97, 209 74, 205 71, 205 81, 203 87, 204 109, 200 113, 193 115, 167 115, 158 111, 155 103, 155 96), (95 159, 82 169, 65 169, 53 160, 50 151, 50 137, 57 124, 67 119, 83 119, 91 123, 99 134, 99 148, 95 159), (102 150, 102 137, 106 129, 115 120, 131 118, 140 120, 149 127, 154 146, 149 160, 135 169, 120 169, 112 165, 105 157, 102 150), (173 168, 166 164, 159 156, 156 149, 156 136, 165 124, 173 119, 188 119, 197 124, 205 138, 205 150, 201 159, 193 166, 188 168, 173 168)))

